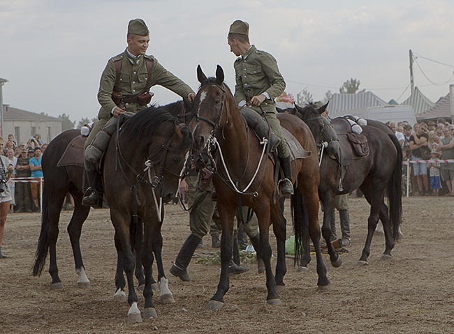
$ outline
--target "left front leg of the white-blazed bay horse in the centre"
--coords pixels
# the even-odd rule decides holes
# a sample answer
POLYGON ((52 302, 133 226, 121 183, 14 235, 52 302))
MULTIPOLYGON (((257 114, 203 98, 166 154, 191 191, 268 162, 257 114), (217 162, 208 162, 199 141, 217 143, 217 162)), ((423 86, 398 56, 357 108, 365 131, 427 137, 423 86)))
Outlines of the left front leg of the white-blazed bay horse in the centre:
POLYGON ((218 199, 218 212, 222 225, 221 234, 221 275, 219 276, 219 283, 217 284, 217 291, 212 296, 210 302, 207 304, 207 310, 220 310, 224 306, 224 295, 228 291, 228 266, 230 259, 232 259, 232 238, 233 238, 233 213, 235 210, 228 210, 225 206, 219 205, 218 199))

